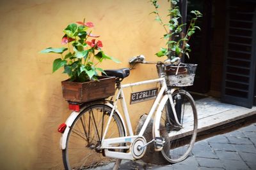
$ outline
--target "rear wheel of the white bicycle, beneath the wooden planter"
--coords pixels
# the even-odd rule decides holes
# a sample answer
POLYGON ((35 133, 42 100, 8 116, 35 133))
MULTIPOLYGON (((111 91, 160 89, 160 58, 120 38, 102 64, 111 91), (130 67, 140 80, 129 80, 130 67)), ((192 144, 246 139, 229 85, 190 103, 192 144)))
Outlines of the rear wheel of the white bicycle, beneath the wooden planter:
MULTIPOLYGON (((117 169, 120 166, 121 160, 104 157, 104 150, 99 148, 111 110, 105 104, 94 104, 81 111, 70 127, 66 149, 62 152, 65 169, 117 169)), ((106 139, 124 135, 124 125, 114 112, 106 139)))

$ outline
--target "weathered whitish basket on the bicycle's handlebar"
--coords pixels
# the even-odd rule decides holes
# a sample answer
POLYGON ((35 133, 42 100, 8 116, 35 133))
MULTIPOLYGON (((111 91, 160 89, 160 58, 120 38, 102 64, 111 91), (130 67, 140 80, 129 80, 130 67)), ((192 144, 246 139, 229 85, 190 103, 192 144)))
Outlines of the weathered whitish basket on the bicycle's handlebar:
POLYGON ((178 66, 164 67, 166 84, 173 87, 193 85, 197 64, 180 63, 178 66))

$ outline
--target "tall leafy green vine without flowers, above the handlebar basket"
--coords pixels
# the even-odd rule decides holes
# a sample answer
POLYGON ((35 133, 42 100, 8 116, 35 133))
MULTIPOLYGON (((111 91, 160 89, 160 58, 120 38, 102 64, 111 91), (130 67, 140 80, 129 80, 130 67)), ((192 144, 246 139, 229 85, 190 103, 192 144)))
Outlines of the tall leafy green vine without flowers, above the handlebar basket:
POLYGON ((159 15, 159 4, 157 0, 150 1, 155 8, 155 11, 152 13, 156 14, 156 20, 161 24, 166 31, 163 38, 166 39, 166 47, 161 48, 159 52, 156 53, 157 57, 168 57, 168 59, 173 59, 175 57, 183 57, 187 55, 189 57, 189 48, 188 41, 191 39, 191 36, 195 33, 196 29, 200 30, 200 27, 196 26, 196 20, 202 17, 200 11, 191 11, 190 13, 194 15, 191 18, 189 24, 182 23, 182 16, 180 15, 179 0, 168 0, 170 2, 170 9, 168 10, 168 17, 170 20, 168 24, 163 23, 163 19, 159 15), (184 32, 184 28, 187 27, 187 31, 184 32))

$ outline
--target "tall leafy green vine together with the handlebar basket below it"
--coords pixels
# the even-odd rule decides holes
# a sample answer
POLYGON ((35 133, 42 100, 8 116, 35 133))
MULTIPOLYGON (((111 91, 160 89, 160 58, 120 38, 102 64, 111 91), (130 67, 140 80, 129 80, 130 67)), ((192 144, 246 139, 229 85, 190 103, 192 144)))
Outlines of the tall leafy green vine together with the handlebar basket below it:
MULTIPOLYGON (((168 0, 168 2, 170 2, 170 9, 168 10, 168 17, 170 17, 170 20, 168 23, 164 24, 162 17, 159 15, 158 1, 151 0, 150 2, 155 8, 152 13, 156 15, 157 22, 159 22, 159 24, 161 24, 166 31, 163 36, 163 38, 166 39, 166 47, 161 48, 161 50, 156 53, 157 57, 166 56, 166 61, 169 63, 171 60, 177 59, 177 57, 180 59, 182 59, 184 55, 189 57, 189 52, 191 52, 191 49, 188 42, 191 39, 191 36, 195 33, 196 29, 200 30, 200 27, 196 26, 196 20, 202 17, 202 13, 196 10, 190 11, 193 17, 191 18, 189 24, 182 23, 180 9, 179 6, 177 6, 179 0, 168 0)), ((180 60, 177 61, 178 62, 174 62, 174 66, 173 64, 166 64, 166 67, 164 67, 169 85, 193 85, 197 65, 181 64, 180 60)))

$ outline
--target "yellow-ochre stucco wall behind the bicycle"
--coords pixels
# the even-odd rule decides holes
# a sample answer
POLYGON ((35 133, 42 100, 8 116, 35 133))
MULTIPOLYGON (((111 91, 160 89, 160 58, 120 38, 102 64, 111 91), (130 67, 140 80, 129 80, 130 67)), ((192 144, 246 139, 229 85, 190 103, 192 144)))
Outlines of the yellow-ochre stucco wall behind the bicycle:
MULTIPOLYGON (((134 55, 157 60, 164 30, 148 15, 153 10, 148 0, 0 1, 0 169, 63 168, 56 129, 70 113, 61 96, 60 81, 67 76, 51 73, 56 55, 38 52, 61 47, 62 30, 86 17, 104 52, 122 61, 102 64, 104 69, 128 67, 134 55)), ((138 66, 125 82, 156 77, 154 66, 138 66)), ((147 104, 133 105, 132 120, 147 113, 147 104)))

